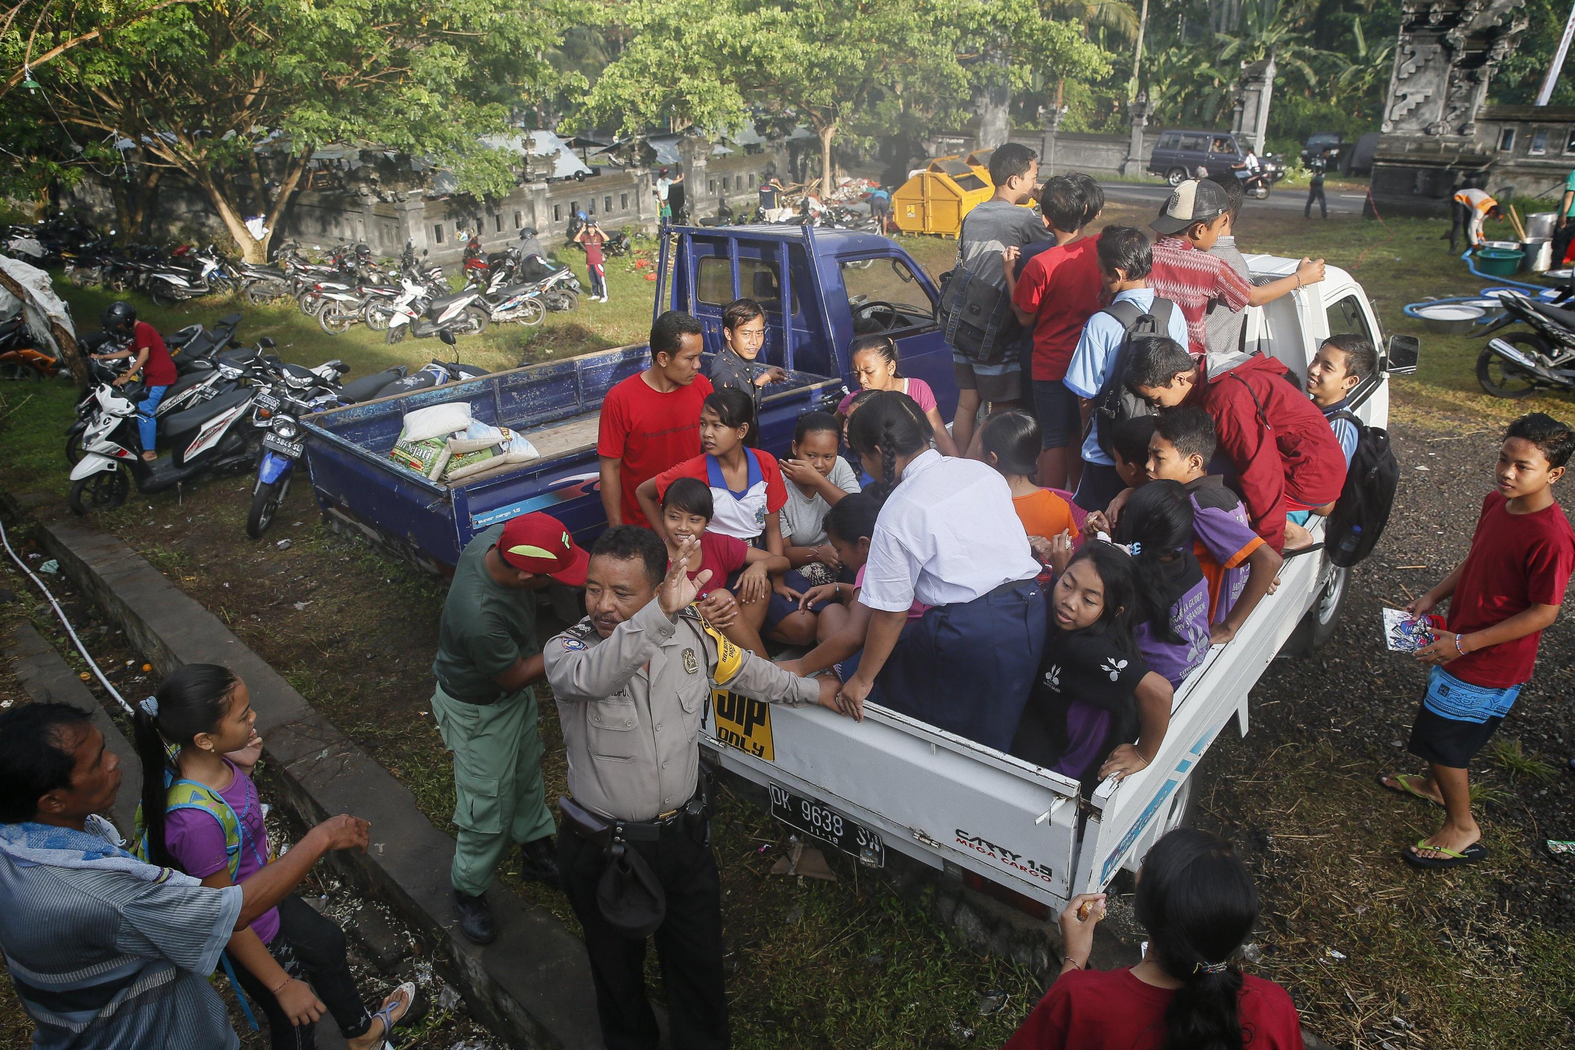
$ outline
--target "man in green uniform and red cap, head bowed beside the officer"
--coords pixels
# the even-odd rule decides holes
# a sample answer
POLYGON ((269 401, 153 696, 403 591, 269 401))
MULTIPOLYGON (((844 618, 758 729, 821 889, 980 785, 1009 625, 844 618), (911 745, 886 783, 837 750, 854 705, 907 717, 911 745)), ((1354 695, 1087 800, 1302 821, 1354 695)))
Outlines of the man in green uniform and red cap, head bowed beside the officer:
POLYGON ((536 592, 554 579, 583 587, 587 560, 558 518, 520 515, 465 546, 443 603, 432 713, 454 752, 454 904, 477 945, 498 937, 482 894, 510 842, 521 875, 558 885, 531 688, 543 674, 536 592))

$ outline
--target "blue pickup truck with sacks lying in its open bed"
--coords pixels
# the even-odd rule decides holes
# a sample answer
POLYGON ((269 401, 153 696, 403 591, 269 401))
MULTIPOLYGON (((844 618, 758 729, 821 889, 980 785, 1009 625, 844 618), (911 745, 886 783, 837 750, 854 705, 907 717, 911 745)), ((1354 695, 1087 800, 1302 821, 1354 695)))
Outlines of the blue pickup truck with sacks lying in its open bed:
MULTIPOLYGON (((761 446, 786 452, 795 420, 852 387, 847 345, 890 334, 902 375, 925 379, 943 416, 956 408, 951 351, 936 321, 940 291, 895 241, 811 227, 669 227, 662 235, 655 310, 685 310, 721 348, 721 310, 739 296, 765 309, 762 357, 788 370, 761 403, 761 446)), ((595 453, 602 400, 650 362, 622 346, 380 398, 302 420, 312 488, 324 513, 435 571, 452 570, 472 535, 550 510, 581 543, 606 526, 595 453), (476 419, 523 433, 540 458, 474 482, 439 485, 389 460, 405 412, 469 401, 476 419)))

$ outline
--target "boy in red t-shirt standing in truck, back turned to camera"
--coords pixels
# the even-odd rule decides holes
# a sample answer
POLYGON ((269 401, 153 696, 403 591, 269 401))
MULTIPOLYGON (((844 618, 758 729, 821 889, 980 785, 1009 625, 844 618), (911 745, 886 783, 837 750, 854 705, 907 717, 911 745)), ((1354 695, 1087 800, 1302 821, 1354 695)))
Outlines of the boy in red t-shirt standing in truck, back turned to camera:
POLYGON ((1040 189, 1040 214, 1055 244, 1035 253, 1017 274, 1016 247, 1002 252, 1006 294, 1024 326, 1033 329, 1033 414, 1040 420, 1040 485, 1077 488, 1082 458, 1068 455, 1082 438, 1082 409, 1066 389, 1066 365, 1084 324, 1099 310, 1099 238, 1084 236, 1088 197, 1076 179, 1057 175, 1040 189))

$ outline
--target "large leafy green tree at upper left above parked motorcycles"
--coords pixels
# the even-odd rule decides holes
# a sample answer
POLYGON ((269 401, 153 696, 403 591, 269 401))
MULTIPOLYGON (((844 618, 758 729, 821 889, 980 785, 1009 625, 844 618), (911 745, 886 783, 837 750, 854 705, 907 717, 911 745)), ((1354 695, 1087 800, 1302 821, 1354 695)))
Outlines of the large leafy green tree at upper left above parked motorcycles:
POLYGON ((543 55, 576 13, 573 0, 180 5, 35 76, 65 124, 189 178, 261 261, 326 145, 419 157, 477 195, 512 189, 518 157, 479 137, 506 132, 512 109, 562 80, 543 55), (249 214, 269 233, 254 238, 249 214))

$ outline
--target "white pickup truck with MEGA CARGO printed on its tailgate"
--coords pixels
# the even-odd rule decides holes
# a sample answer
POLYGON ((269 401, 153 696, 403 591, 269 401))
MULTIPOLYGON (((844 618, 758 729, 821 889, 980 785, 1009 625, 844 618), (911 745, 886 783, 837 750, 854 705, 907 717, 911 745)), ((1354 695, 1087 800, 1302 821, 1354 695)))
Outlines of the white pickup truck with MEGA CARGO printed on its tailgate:
MULTIPOLYGON (((1257 255, 1247 264, 1262 282, 1292 274, 1296 260, 1257 255)), ((1353 411, 1386 427, 1389 373, 1414 372, 1418 342, 1384 345, 1350 274, 1329 266, 1321 283, 1252 307, 1247 318, 1249 345, 1301 379, 1323 338, 1340 332, 1381 348, 1380 372, 1356 390, 1353 411)), ((1246 735, 1247 694, 1276 653, 1329 639, 1345 579, 1321 543, 1287 559, 1276 593, 1177 690, 1153 763, 1104 781, 1085 806, 1076 781, 879 705, 854 723, 825 708, 769 707, 717 691, 702 743, 723 768, 765 787, 780 820, 865 864, 879 867, 887 850, 898 850, 975 872, 1054 915, 1074 894, 1101 891, 1123 866, 1136 871, 1154 839, 1186 820, 1191 778, 1210 745, 1232 718, 1246 735)))

